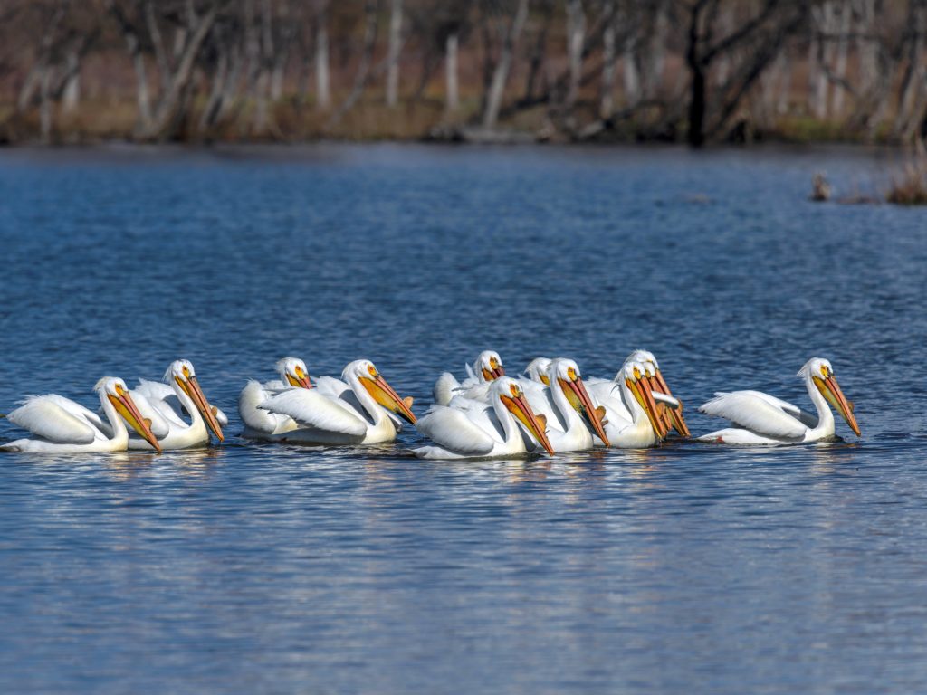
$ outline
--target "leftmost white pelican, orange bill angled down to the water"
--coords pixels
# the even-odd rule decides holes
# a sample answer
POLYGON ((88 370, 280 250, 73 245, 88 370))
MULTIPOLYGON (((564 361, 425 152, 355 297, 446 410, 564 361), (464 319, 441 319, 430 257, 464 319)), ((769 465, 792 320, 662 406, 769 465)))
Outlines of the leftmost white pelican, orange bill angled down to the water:
POLYGON ((32 396, 6 418, 32 432, 36 438, 17 439, 0 449, 58 454, 124 451, 129 445, 129 432, 122 422, 125 418, 152 449, 160 452, 150 423, 138 411, 124 381, 104 376, 96 382, 94 390, 99 394, 108 424, 70 398, 56 394, 32 396))

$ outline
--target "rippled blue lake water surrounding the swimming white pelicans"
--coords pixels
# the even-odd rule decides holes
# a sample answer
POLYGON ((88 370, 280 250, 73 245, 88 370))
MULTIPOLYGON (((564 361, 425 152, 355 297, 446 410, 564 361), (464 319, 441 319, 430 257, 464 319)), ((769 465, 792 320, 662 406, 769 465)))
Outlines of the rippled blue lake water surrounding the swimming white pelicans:
MULTIPOLYGON (((0 411, 197 367, 219 447, 0 456, 4 692, 927 690, 927 212, 867 151, 0 152, 0 411), (237 434, 248 377, 498 349, 695 406, 830 358, 863 436, 428 462, 237 434)), ((0 440, 18 436, 0 422, 0 440)))

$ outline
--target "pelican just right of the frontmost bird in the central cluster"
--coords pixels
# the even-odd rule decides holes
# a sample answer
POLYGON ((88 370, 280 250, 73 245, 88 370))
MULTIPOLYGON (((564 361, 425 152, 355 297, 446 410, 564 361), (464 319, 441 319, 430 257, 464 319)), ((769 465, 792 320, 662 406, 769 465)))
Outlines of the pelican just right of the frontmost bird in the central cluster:
POLYGON ((595 433, 608 446, 608 435, 603 426, 604 410, 592 403, 574 360, 550 360, 547 383, 521 382, 528 402, 535 412, 544 415, 547 434, 556 451, 592 449, 595 433))

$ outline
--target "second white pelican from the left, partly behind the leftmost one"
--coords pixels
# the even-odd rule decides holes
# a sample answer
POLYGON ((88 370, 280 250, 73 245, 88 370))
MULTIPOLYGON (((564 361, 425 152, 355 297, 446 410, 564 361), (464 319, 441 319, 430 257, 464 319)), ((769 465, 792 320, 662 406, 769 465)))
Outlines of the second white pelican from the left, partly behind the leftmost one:
MULTIPOLYGON (((203 447, 210 443, 210 430, 219 441, 224 439, 220 423, 222 420, 228 423, 228 419, 203 395, 190 360, 172 361, 163 382, 140 379, 132 391, 133 398, 140 404, 146 403, 143 408, 150 414, 161 449, 203 447), (184 422, 184 411, 189 414, 190 423, 184 422)), ((144 439, 129 438, 129 449, 150 448, 144 439)))

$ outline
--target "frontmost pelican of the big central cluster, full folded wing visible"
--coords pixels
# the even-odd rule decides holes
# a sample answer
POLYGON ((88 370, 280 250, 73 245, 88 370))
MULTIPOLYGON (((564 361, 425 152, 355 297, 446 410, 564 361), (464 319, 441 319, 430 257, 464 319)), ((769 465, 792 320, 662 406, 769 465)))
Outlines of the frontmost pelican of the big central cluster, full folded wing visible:
POLYGON ((413 453, 420 459, 482 459, 518 456, 526 453, 518 423, 553 453, 544 434, 544 421, 534 414, 521 385, 500 376, 489 386, 489 405, 457 396, 451 406, 433 405, 416 428, 438 443, 413 453), (517 420, 516 420, 517 419, 517 420))

